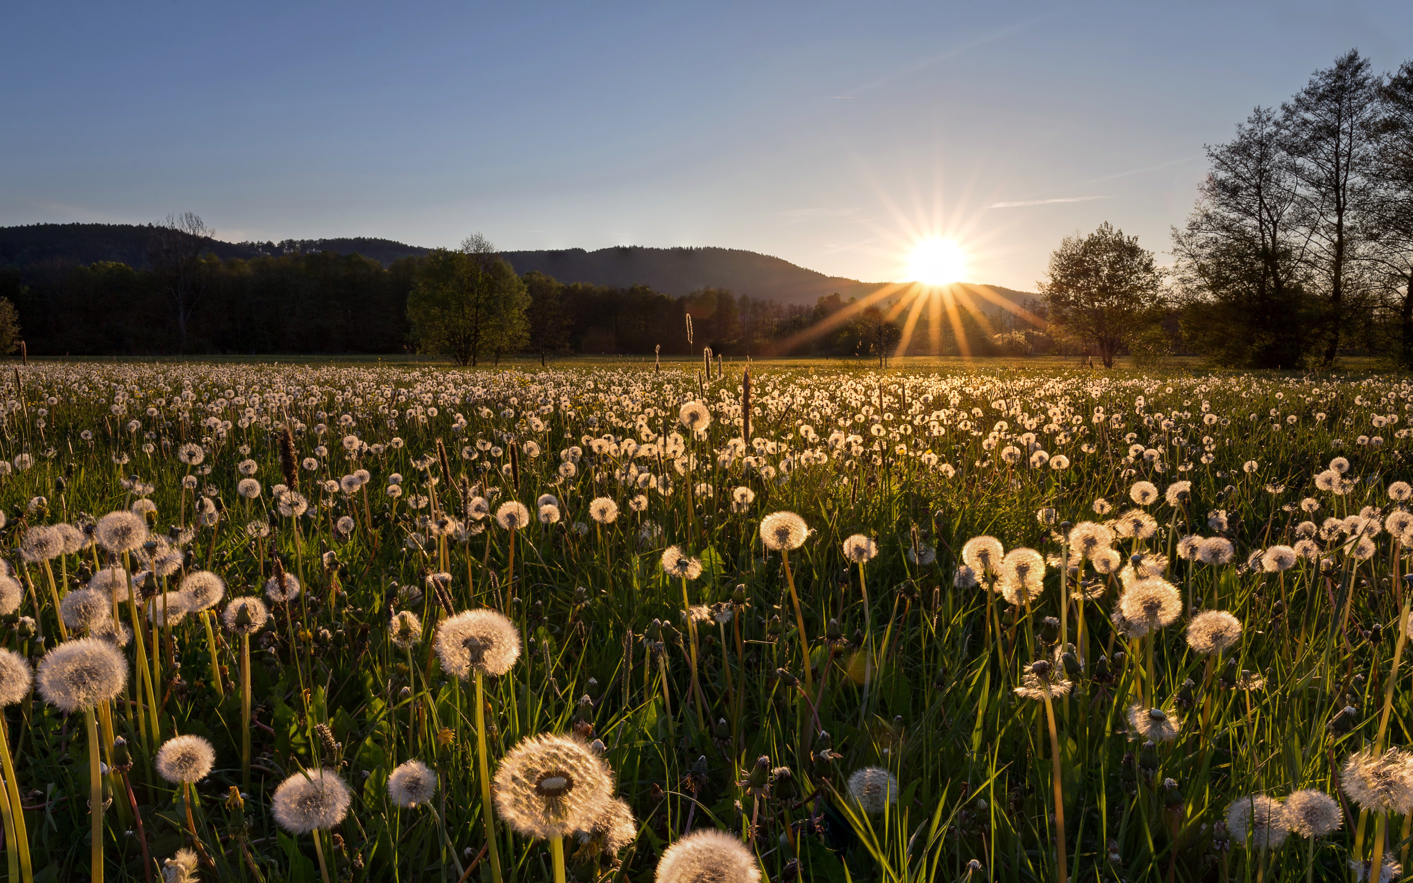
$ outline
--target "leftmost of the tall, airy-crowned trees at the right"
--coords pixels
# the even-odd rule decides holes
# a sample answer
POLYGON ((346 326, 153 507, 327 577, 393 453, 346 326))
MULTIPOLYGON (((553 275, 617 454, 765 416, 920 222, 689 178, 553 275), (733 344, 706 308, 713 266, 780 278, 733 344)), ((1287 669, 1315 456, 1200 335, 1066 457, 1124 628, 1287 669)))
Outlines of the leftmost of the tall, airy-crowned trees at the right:
POLYGON ((1296 178, 1276 113, 1256 107, 1208 146, 1211 172, 1173 230, 1183 339, 1229 367, 1296 367, 1308 346, 1296 178))

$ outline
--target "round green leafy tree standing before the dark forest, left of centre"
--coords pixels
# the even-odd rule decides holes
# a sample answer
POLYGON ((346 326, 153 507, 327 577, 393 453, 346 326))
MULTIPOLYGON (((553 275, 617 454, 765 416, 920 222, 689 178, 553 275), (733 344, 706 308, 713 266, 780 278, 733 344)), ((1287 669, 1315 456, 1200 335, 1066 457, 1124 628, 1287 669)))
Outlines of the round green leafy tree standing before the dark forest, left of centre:
POLYGON ((407 319, 422 352, 475 366, 487 352, 497 357, 526 340, 524 283, 479 233, 461 249, 434 249, 407 295, 407 319))

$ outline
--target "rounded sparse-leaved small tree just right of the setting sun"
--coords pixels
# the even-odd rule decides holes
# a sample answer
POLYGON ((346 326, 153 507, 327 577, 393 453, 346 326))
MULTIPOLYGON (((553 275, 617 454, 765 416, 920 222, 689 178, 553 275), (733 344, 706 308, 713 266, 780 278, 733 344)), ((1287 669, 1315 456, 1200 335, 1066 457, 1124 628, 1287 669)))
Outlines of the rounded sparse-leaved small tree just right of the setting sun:
POLYGON ((1067 236, 1050 256, 1050 278, 1039 285, 1050 321, 1092 342, 1104 367, 1113 367, 1119 348, 1153 325, 1164 305, 1153 253, 1109 222, 1088 236, 1067 236))

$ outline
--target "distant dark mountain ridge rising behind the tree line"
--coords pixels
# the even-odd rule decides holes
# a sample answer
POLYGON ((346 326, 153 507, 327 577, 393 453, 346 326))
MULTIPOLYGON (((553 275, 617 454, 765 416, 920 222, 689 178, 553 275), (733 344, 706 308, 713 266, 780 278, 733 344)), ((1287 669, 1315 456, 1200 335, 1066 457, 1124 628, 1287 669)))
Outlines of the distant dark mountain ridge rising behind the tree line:
MULTIPOLYGON (((0 227, 0 267, 92 264, 117 261, 147 267, 147 243, 153 225, 37 223, 0 227)), ((390 239, 342 237, 229 243, 212 240, 209 251, 220 259, 254 259, 308 251, 357 253, 389 266, 403 257, 430 251, 390 239)), ((825 275, 787 260, 742 249, 616 246, 584 249, 502 251, 517 273, 538 271, 561 283, 589 283, 626 288, 649 285, 654 291, 684 295, 698 288, 729 288, 738 295, 781 304, 814 304, 839 294, 844 300, 865 297, 889 283, 863 283, 825 275)), ((1023 304, 1039 295, 1000 285, 989 288, 998 298, 1023 304)))

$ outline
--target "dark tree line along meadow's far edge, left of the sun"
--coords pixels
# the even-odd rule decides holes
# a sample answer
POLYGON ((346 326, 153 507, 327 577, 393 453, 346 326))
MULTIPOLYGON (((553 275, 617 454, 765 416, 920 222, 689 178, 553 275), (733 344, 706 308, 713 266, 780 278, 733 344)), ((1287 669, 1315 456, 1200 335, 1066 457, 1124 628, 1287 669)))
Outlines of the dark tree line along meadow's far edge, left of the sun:
MULTIPOLYGON (((841 311, 848 321, 793 342, 788 355, 872 359, 893 355, 900 336, 886 305, 861 308, 838 294, 788 305, 726 288, 673 297, 517 274, 479 235, 386 267, 332 250, 219 250, 201 218, 185 213, 148 227, 143 266, 54 259, 0 267, 0 352, 23 328, 30 355, 48 356, 420 350, 471 365, 512 353, 699 356, 704 346, 770 356, 841 311)), ((985 318, 964 315, 942 352, 998 352, 993 333, 985 318)))

